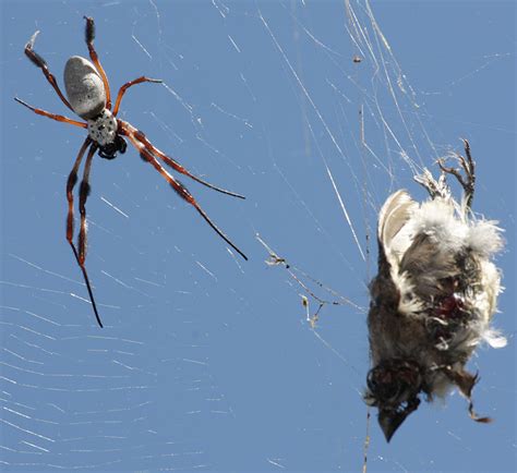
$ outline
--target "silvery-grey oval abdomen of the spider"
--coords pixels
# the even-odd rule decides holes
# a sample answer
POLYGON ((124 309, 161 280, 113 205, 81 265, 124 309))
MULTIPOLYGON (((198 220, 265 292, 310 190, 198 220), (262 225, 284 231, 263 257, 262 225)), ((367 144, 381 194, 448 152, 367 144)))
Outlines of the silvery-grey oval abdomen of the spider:
POLYGON ((64 65, 64 88, 75 113, 88 120, 106 108, 106 90, 95 65, 72 56, 64 65))

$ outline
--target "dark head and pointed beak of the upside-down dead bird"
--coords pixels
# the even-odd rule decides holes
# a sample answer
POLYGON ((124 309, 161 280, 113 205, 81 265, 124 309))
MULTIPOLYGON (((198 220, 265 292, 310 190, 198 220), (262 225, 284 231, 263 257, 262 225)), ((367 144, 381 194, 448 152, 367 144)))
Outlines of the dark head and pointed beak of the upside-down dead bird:
POLYGON ((364 401, 378 408, 378 424, 389 441, 406 417, 420 404, 423 390, 419 365, 410 360, 387 360, 370 369, 364 401))

